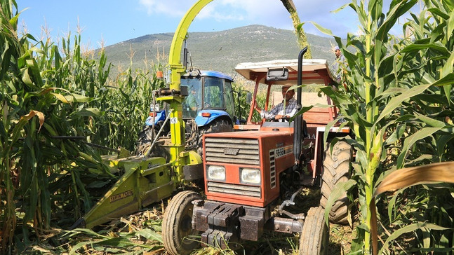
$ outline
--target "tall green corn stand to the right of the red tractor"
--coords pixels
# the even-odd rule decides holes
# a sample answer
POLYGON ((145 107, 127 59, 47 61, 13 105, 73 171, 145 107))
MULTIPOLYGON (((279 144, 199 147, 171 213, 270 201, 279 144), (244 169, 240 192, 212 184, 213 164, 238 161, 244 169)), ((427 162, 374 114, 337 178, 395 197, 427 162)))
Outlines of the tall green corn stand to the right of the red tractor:
POLYGON ((340 63, 338 88, 321 90, 347 120, 343 125, 354 131, 346 138, 356 149, 352 179, 338 186, 359 205, 352 252, 453 252, 452 175, 437 179, 451 184, 414 185, 433 182, 439 172, 432 163, 454 160, 454 4, 422 1, 425 8, 403 24, 403 36, 390 35, 399 18, 416 4, 417 0, 392 1, 386 14, 378 0, 342 6, 340 10, 356 12, 361 30, 359 35, 347 34, 345 44, 314 23, 334 37, 346 59, 340 63), (422 165, 427 166, 417 167, 422 165), (403 167, 416 168, 408 175, 403 167), (394 188, 386 191, 399 191, 379 195, 380 184, 393 177, 394 188), (382 240, 380 251, 377 235, 382 240))

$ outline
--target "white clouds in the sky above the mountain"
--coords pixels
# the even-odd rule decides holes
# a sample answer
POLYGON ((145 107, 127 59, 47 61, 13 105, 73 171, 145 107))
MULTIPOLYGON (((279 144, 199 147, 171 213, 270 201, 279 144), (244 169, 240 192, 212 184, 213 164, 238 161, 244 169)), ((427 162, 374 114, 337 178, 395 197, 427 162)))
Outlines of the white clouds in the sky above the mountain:
MULTIPOLYGON (((391 0, 385 0, 385 12, 389 1, 391 0)), ((347 36, 347 32, 356 33, 358 29, 359 22, 351 8, 347 7, 338 13, 332 13, 350 0, 293 0, 293 2, 302 22, 317 22, 341 37, 347 36)), ((196 3, 196 0, 139 0, 139 3, 149 15, 159 14, 176 18, 182 17, 196 3)), ((289 13, 281 0, 213 0, 201 10, 196 20, 293 29, 289 13)), ((213 26, 215 27, 214 23, 213 26)), ((307 24, 304 28, 310 34, 323 35, 312 25, 307 24)))

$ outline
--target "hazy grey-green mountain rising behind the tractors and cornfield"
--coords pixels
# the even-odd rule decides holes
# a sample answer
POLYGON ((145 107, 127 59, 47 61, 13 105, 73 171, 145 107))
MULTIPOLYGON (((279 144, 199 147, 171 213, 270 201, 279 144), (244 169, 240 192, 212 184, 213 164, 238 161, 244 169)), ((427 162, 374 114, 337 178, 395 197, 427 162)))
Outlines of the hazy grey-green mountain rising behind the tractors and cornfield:
MULTIPOLYGON (((145 69, 148 64, 167 63, 173 33, 148 34, 105 47, 107 60, 118 74, 131 62, 133 69, 145 69)), ((334 61, 331 38, 307 34, 312 58, 334 61)), ((260 62, 298 58, 300 49, 293 31, 262 25, 238 27, 220 32, 189 33, 187 48, 194 68, 222 71, 234 76, 234 67, 241 62, 260 62)))

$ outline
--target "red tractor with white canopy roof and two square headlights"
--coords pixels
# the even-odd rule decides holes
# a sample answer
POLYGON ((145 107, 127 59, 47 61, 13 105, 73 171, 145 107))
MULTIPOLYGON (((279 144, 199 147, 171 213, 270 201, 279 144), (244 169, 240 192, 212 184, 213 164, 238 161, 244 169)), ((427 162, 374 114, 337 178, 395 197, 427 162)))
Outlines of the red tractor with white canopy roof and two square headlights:
MULTIPOLYGON (((236 71, 255 81, 253 99, 260 83, 268 86, 266 110, 273 87, 333 83, 326 60, 303 60, 304 53, 298 60, 239 64, 236 71)), ((300 87, 296 95, 305 106, 300 87)), ((235 249, 241 240, 259 240, 264 230, 300 233, 300 255, 325 251, 329 227, 323 207, 335 184, 347 181, 352 158, 352 147, 334 138, 348 135, 349 129, 338 123, 325 134, 326 125, 338 117, 335 107, 312 107, 290 123, 253 123, 253 111, 251 105, 248 123, 235 126, 243 131, 203 136, 206 200, 182 191, 169 202, 162 235, 170 254, 189 254, 199 244, 235 249), (286 211, 303 186, 321 186, 321 206, 307 214, 286 211)), ((345 223, 347 207, 346 196, 336 201, 330 220, 345 223)))

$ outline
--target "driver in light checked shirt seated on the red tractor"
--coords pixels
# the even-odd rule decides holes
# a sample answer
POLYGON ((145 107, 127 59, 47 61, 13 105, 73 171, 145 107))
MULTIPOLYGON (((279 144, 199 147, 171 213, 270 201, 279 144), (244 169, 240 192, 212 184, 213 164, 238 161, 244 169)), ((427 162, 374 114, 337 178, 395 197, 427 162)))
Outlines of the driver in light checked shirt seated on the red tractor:
POLYGON ((288 90, 291 85, 283 85, 282 87, 282 97, 285 100, 282 100, 281 103, 277 104, 271 111, 262 110, 257 102, 254 102, 255 110, 260 113, 260 117, 265 118, 266 120, 279 120, 282 121, 283 118, 291 118, 298 112, 298 103, 293 98, 295 95, 295 90, 288 90), (285 102, 285 106, 284 106, 285 102))

